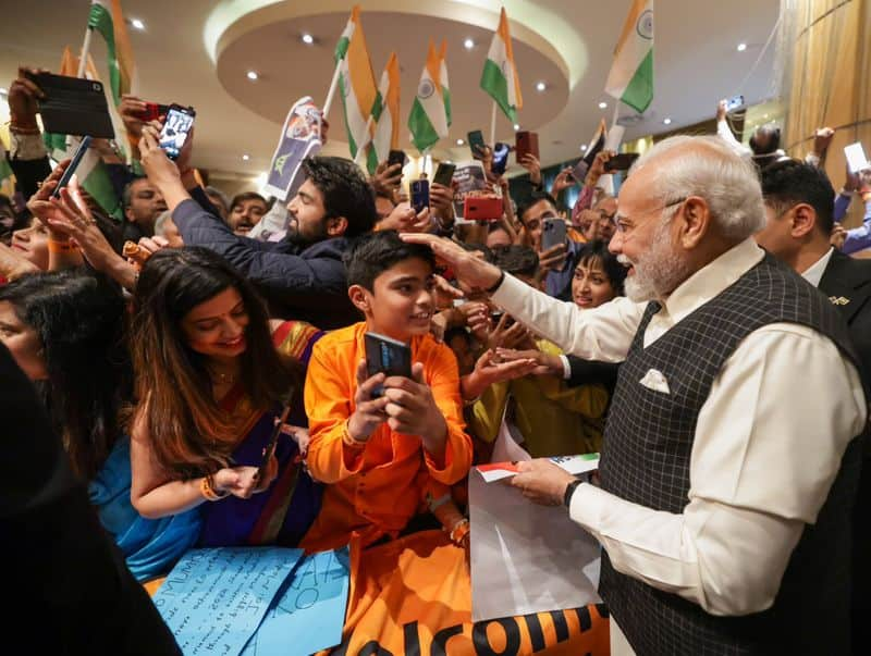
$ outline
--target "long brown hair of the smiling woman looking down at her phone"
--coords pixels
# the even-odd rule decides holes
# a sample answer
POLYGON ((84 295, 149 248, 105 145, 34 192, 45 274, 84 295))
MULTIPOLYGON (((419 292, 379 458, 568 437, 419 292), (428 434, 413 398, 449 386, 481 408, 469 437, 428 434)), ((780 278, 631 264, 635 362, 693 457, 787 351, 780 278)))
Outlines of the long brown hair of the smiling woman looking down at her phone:
POLYGON ((139 403, 134 422, 144 422, 157 462, 172 478, 226 467, 241 437, 212 396, 207 358, 188 346, 182 330, 191 310, 230 288, 240 293, 248 314, 240 384, 253 409, 286 403, 299 384, 299 364, 277 352, 266 306, 242 274, 201 247, 155 253, 134 296, 131 350, 139 403))

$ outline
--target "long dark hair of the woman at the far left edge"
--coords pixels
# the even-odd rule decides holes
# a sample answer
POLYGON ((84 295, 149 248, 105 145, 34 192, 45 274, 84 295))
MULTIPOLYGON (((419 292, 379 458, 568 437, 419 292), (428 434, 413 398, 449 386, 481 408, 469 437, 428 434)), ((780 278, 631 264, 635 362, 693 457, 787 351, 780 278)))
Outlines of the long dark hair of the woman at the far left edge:
POLYGON ((39 336, 48 380, 37 386, 73 469, 90 480, 122 431, 119 412, 132 396, 120 287, 84 270, 52 271, 0 287, 0 300, 39 336))

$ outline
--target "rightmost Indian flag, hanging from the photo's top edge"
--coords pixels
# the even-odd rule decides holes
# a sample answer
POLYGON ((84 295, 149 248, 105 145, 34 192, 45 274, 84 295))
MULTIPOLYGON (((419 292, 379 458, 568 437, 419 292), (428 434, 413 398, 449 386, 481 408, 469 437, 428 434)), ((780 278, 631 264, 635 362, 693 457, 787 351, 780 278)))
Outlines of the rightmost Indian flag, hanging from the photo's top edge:
POLYGON ((643 112, 653 100, 653 0, 633 2, 605 92, 637 112, 643 112))

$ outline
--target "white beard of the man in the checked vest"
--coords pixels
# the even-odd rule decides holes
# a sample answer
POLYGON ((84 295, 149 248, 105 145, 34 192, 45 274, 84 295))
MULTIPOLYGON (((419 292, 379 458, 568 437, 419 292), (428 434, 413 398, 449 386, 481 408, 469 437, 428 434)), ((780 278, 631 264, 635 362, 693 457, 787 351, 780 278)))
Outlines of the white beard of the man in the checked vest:
POLYGON ((626 277, 624 289, 629 300, 643 302, 661 299, 671 294, 689 275, 689 267, 675 252, 670 238, 671 221, 660 223, 653 233, 650 249, 631 261, 625 255, 617 261, 633 267, 635 272, 626 277))

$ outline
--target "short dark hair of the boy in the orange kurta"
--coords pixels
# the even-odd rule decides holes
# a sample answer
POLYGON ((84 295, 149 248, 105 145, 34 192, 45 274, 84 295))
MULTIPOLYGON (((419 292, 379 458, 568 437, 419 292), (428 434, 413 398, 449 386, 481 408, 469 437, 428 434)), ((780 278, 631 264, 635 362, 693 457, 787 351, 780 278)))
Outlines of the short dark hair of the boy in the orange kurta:
POLYGON ((360 285, 369 292, 375 290, 375 280, 384 271, 417 258, 436 270, 436 256, 427 246, 407 244, 400 239, 395 230, 382 230, 357 238, 344 255, 347 269, 347 285, 360 285))

